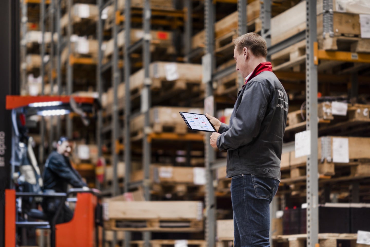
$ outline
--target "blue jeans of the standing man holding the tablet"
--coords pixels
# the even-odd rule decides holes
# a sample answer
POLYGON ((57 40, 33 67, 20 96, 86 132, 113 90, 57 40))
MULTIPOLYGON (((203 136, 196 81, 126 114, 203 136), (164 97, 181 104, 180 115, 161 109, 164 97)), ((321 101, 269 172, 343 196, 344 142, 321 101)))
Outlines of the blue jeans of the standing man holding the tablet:
POLYGON ((234 246, 269 247, 270 206, 279 180, 250 174, 233 176, 234 246))

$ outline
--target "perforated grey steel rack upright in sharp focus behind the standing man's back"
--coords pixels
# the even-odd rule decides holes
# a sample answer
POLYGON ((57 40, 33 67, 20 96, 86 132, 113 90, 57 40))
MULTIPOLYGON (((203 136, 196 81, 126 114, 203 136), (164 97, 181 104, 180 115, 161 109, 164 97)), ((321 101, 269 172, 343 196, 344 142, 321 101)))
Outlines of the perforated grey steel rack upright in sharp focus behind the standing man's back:
MULTIPOLYGON (((307 247, 319 243, 318 169, 317 169, 317 66, 313 45, 317 41, 316 0, 306 2, 306 129, 310 131, 311 154, 307 156, 307 247)), ((317 59, 317 58, 316 58, 317 59)))

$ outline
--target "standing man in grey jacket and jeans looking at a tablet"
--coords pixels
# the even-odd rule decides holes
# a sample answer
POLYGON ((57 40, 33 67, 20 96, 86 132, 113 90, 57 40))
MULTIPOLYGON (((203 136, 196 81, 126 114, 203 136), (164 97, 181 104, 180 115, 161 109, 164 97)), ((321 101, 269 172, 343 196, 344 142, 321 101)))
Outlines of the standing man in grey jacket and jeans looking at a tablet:
POLYGON ((245 78, 229 126, 209 116, 211 146, 227 150, 235 247, 269 247, 270 209, 280 181, 287 94, 266 62, 266 41, 247 33, 234 41, 236 70, 245 78))

